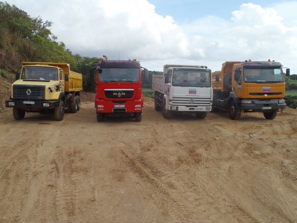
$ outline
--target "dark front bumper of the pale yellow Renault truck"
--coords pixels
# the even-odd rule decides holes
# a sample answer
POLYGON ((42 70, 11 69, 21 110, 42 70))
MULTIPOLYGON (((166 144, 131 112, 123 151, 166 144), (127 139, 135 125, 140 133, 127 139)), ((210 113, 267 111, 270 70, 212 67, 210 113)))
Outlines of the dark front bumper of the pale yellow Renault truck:
POLYGON ((9 99, 5 101, 6 108, 20 108, 25 110, 30 109, 54 109, 59 107, 59 100, 43 100, 43 101, 34 101, 34 100, 13 100, 9 99), (32 104, 26 104, 30 102, 32 104), (14 103, 14 105, 12 105, 14 103), (49 106, 44 106, 44 104, 49 104, 49 106))

